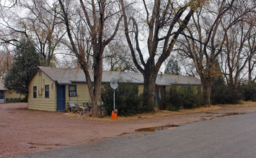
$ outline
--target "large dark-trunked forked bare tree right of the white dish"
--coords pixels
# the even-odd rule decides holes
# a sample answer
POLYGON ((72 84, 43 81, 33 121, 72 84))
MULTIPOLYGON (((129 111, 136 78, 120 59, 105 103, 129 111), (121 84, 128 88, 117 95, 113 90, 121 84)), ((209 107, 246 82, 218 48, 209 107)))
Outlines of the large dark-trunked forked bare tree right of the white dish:
POLYGON ((189 1, 187 4, 181 4, 182 6, 177 1, 143 0, 142 2, 144 7, 141 11, 144 13, 141 13, 140 17, 128 17, 128 5, 120 0, 123 9, 125 37, 131 50, 133 62, 144 75, 144 106, 149 106, 149 110, 154 111, 154 89, 159 68, 169 57, 180 33, 187 26, 194 11, 200 4, 203 4, 203 1, 189 1), (144 14, 146 17, 141 17, 144 14), (146 26, 139 31, 138 24, 141 23, 146 26), (134 45, 131 40, 132 32, 134 32, 134 45), (144 34, 147 34, 147 55, 143 53, 144 50, 141 50, 139 42, 139 36, 143 37, 144 34), (139 59, 136 58, 136 53, 138 53, 139 59), (148 58, 146 59, 145 56, 148 58))

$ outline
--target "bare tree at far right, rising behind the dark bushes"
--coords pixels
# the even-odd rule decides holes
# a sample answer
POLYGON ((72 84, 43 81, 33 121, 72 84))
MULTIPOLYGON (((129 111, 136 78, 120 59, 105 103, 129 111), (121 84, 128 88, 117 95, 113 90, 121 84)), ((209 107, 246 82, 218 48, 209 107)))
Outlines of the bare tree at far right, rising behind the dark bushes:
MULTIPOLYGON (((225 27, 223 22, 221 22, 221 25, 225 27)), ((253 50, 250 51, 250 46, 252 45, 248 47, 248 44, 251 42, 249 39, 252 40, 251 34, 254 27, 252 23, 241 20, 234 27, 223 29, 227 35, 224 39, 224 53, 221 54, 221 62, 226 83, 233 90, 237 90, 239 87, 241 73, 246 68, 247 62, 248 64, 251 63, 249 63, 249 60, 255 54, 253 50)), ((251 65, 249 67, 252 68, 251 65)))

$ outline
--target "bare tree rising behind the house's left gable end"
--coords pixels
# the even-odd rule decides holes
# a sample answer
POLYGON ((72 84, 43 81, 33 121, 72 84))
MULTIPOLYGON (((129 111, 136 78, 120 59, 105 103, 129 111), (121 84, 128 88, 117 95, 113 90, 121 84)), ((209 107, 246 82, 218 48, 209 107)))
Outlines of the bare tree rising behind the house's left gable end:
POLYGON ((19 4, 26 14, 21 17, 16 13, 10 17, 12 21, 4 19, 1 24, 8 32, 0 38, 1 42, 16 45, 19 40, 17 38, 30 37, 46 65, 54 66, 56 58, 54 52, 66 33, 63 31, 61 19, 58 18, 60 8, 56 2, 51 3, 47 0, 27 0, 19 4))

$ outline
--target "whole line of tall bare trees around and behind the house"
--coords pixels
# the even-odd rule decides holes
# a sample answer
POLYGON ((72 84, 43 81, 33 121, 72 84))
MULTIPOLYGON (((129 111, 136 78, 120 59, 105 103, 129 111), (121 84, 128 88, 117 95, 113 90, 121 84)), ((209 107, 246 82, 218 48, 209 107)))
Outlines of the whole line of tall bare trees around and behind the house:
POLYGON ((9 1, 0 8, 1 56, 20 39, 29 39, 48 66, 59 65, 58 54, 69 55, 84 71, 93 116, 102 116, 104 68, 140 72, 143 106, 154 111, 156 76, 172 56, 176 68, 182 65, 176 71, 200 78, 204 104, 211 105, 214 78, 224 75, 233 90, 243 75, 256 80, 255 6, 252 0, 9 1))

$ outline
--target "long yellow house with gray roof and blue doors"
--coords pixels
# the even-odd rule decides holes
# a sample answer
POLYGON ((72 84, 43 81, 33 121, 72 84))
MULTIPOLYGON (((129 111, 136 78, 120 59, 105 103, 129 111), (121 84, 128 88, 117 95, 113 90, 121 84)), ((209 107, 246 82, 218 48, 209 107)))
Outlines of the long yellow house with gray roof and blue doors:
MULTIPOLYGON (((91 76, 92 71, 90 72, 91 76)), ((110 83, 115 78, 123 83, 136 83, 138 93, 142 93, 144 78, 141 73, 120 73, 103 71, 102 83, 110 83)), ((91 78, 93 80, 93 78, 91 78)), ((156 95, 160 89, 171 85, 201 85, 198 78, 180 75, 158 75, 156 95)), ((69 101, 82 104, 91 101, 84 72, 71 68, 37 67, 30 78, 28 108, 45 111, 64 111, 69 101)))

